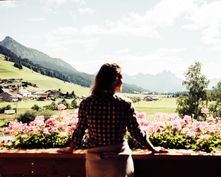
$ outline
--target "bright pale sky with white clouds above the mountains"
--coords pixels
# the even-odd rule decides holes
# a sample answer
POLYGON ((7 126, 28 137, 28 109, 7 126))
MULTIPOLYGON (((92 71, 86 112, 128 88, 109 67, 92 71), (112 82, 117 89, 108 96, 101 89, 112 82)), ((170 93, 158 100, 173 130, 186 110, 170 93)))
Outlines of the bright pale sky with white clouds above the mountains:
POLYGON ((6 36, 90 74, 116 62, 129 75, 184 78, 199 61, 221 79, 220 0, 0 0, 6 36))

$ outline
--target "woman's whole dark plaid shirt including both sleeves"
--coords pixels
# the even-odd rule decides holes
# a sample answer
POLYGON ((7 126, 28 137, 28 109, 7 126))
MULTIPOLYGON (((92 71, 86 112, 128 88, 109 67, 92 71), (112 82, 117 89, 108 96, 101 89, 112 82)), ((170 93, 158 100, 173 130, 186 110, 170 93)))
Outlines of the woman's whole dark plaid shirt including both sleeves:
POLYGON ((79 121, 72 134, 77 147, 86 129, 88 148, 122 143, 127 130, 141 145, 150 147, 146 133, 139 127, 132 102, 113 92, 87 97, 81 102, 78 114, 79 121))

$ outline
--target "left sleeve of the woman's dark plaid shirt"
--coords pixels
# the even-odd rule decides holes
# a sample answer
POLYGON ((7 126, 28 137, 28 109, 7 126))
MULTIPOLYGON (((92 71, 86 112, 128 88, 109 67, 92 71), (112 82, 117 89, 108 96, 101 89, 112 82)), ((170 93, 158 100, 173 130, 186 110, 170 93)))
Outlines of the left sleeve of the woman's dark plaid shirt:
POLYGON ((82 138, 85 134, 86 129, 87 129, 86 105, 85 102, 82 101, 78 109, 78 123, 71 137, 72 142, 76 147, 79 147, 81 145, 82 138))

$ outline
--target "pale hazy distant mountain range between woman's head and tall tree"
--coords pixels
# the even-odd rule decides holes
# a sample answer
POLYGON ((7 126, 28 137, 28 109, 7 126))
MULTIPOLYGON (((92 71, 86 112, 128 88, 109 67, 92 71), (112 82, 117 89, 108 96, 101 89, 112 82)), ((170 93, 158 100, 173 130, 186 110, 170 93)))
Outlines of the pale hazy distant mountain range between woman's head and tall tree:
POLYGON ((151 74, 137 74, 124 75, 125 82, 129 84, 136 84, 144 89, 155 92, 177 92, 184 91, 182 80, 176 77, 170 71, 162 71, 156 75, 151 74))

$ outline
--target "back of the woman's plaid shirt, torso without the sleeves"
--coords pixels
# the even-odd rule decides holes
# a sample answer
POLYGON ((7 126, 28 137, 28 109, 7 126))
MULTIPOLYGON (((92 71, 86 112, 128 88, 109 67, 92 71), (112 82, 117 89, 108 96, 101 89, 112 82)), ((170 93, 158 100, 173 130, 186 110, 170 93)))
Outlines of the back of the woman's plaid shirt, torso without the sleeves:
POLYGON ((81 103, 87 118, 89 147, 122 143, 126 133, 130 102, 113 92, 92 95, 81 103))

